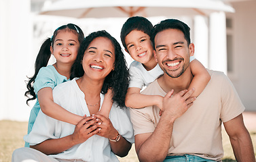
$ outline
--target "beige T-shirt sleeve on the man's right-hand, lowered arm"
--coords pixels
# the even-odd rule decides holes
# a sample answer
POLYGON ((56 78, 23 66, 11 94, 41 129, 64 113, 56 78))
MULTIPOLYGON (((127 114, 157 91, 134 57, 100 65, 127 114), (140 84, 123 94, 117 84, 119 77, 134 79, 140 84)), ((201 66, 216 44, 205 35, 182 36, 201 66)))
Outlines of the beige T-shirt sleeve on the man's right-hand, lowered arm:
POLYGON ((245 107, 240 100, 232 82, 223 74, 221 86, 221 120, 225 123, 240 115, 245 107))

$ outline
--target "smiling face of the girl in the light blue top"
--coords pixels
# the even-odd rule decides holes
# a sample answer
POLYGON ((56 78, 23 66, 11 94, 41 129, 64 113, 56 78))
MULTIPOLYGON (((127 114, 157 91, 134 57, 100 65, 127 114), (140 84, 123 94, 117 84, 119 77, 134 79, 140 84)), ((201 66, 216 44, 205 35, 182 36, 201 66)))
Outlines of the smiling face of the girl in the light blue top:
POLYGON ((79 49, 78 37, 69 30, 60 30, 50 49, 57 63, 73 64, 79 49))

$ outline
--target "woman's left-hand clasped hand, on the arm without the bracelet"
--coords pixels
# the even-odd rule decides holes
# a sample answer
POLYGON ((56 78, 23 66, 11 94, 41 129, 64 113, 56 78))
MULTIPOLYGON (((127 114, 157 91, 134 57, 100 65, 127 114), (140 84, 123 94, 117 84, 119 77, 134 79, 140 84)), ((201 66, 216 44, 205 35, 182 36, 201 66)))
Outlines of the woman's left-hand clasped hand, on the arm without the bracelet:
POLYGON ((88 138, 94 134, 97 134, 98 129, 96 122, 96 117, 92 116, 81 119, 81 121, 79 121, 79 123, 75 126, 73 134, 71 134, 72 142, 74 144, 80 144, 88 140, 88 138))

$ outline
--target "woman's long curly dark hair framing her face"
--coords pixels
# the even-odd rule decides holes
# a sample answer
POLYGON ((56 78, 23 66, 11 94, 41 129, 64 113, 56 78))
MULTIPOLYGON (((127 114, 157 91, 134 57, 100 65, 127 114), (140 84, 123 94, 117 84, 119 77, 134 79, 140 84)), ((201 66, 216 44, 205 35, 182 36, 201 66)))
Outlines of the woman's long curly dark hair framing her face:
POLYGON ((84 76, 84 69, 81 65, 81 61, 83 60, 84 53, 86 49, 88 49, 90 43, 98 37, 108 38, 113 44, 113 47, 115 48, 115 69, 111 71, 109 75, 107 75, 107 77, 105 78, 101 92, 103 94, 106 94, 107 90, 111 88, 113 91, 112 101, 117 103, 117 105, 119 105, 120 107, 126 107, 124 101, 126 98, 126 92, 129 84, 129 74, 126 60, 120 44, 116 41, 115 38, 113 38, 113 36, 111 36, 105 30, 92 32, 84 39, 83 43, 81 43, 77 54, 77 59, 75 60, 75 63, 71 68, 71 79, 84 76))

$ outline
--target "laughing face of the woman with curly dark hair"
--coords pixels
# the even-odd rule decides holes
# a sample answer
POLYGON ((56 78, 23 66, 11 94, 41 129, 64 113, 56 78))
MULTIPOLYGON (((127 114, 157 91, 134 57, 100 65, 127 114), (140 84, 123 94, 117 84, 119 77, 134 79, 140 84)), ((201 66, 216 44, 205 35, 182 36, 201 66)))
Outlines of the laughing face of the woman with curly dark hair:
POLYGON ((112 42, 105 37, 94 38, 84 52, 84 76, 93 80, 105 80, 111 70, 114 70, 114 63, 115 48, 112 42))

